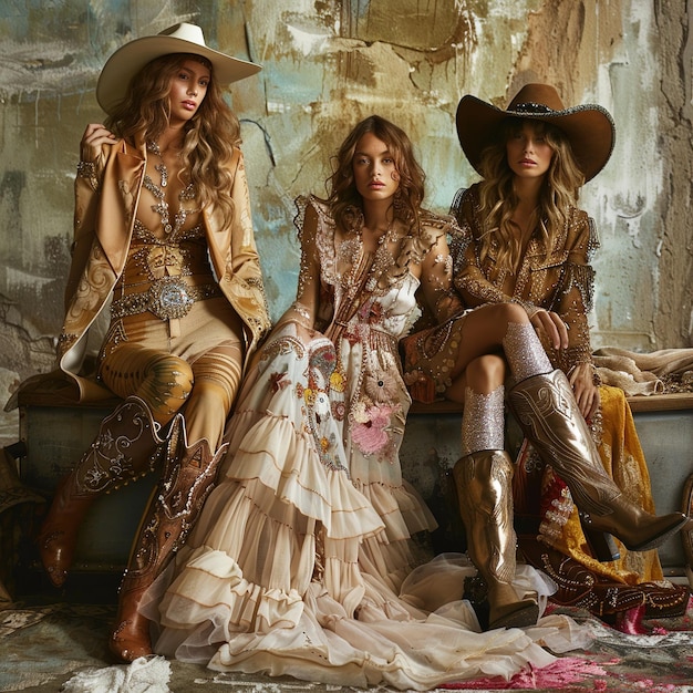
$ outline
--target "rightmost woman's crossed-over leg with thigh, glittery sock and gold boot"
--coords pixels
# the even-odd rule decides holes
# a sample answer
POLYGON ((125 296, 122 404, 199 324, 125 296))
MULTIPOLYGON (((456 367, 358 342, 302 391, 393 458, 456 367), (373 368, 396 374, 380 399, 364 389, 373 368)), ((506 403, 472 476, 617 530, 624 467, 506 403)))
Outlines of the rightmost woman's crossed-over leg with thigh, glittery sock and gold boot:
POLYGON ((592 528, 613 534, 632 550, 645 550, 686 523, 680 513, 655 517, 625 500, 603 469, 566 375, 552 370, 521 306, 497 303, 473 311, 459 341, 454 379, 475 356, 501 350, 515 382, 509 400, 518 423, 546 464, 568 484, 592 528))

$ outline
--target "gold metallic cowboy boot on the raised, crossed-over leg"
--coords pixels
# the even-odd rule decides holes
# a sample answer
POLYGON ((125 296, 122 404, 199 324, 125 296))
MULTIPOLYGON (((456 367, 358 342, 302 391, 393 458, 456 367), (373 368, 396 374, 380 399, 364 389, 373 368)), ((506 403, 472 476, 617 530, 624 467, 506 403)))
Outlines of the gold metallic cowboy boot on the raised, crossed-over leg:
POLYGON ((510 390, 508 401, 540 457, 568 485, 588 528, 613 535, 631 551, 645 551, 689 521, 681 513, 652 515, 623 496, 604 472, 562 371, 521 381, 510 390))

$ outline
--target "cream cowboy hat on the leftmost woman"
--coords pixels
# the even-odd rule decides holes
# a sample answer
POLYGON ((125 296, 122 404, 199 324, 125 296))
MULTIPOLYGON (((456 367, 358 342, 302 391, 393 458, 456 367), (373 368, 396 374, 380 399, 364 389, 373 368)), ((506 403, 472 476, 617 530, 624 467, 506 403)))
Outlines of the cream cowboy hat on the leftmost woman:
POLYGON ((108 58, 96 84, 96 101, 101 107, 111 113, 125 97, 130 82, 137 72, 155 58, 170 53, 194 53, 206 58, 219 84, 244 80, 262 69, 261 65, 210 49, 197 24, 182 22, 156 35, 135 39, 108 58))

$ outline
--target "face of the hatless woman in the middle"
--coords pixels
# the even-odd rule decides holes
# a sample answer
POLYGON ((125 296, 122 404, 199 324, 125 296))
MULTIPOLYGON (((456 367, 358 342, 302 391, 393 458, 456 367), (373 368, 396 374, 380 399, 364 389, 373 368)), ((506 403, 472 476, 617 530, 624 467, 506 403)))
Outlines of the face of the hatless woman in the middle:
POLYGON ((373 133, 356 143, 351 162, 356 190, 364 200, 392 197, 400 187, 400 174, 387 145, 373 133))

